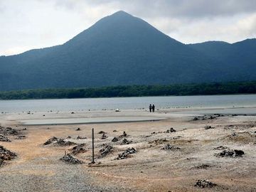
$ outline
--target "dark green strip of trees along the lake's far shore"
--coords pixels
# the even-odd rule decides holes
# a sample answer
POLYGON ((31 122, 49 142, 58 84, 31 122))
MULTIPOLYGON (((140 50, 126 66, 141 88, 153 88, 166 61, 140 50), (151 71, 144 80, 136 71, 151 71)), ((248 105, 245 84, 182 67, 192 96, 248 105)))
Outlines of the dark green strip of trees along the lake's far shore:
POLYGON ((183 85, 127 85, 75 89, 21 90, 0 92, 0 99, 24 100, 89 97, 142 97, 165 95, 225 95, 252 93, 256 93, 256 81, 183 85))

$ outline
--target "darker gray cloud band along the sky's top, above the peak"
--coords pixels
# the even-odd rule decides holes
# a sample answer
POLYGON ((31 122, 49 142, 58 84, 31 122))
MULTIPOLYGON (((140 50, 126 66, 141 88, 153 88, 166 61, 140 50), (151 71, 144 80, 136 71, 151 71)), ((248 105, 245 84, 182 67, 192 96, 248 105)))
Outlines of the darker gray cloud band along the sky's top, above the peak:
POLYGON ((183 17, 213 17, 233 16, 235 14, 252 13, 256 11, 255 0, 56 0, 57 5, 73 9, 81 4, 102 6, 114 4, 119 9, 132 11, 142 16, 183 16, 183 17))

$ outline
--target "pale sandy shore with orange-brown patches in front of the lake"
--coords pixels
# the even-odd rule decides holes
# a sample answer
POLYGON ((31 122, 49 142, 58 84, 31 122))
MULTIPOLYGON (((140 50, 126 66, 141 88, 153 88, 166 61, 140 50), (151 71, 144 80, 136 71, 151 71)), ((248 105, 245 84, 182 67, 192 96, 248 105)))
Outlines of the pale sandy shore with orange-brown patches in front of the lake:
POLYGON ((243 114, 200 110, 205 114, 193 109, 0 114, 2 132, 17 130, 0 133, 11 141, 0 146, 16 154, 0 166, 0 191, 256 191, 255 108, 243 114), (36 125, 35 119, 51 123, 36 125), (29 120, 34 124, 24 124, 29 120), (90 164, 92 128, 95 164, 90 164), (74 154, 78 144, 84 145, 74 154), (225 154, 232 149, 244 154, 225 154), (61 161, 65 154, 82 164, 61 161), (201 179, 214 185, 195 186, 201 179))

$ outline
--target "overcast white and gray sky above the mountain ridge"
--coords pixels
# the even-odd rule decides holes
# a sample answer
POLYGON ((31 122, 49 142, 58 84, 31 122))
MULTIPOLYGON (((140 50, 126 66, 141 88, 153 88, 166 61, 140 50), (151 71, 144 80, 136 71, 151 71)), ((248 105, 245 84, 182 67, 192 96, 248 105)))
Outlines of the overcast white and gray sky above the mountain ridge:
POLYGON ((0 0, 0 55, 63 44, 119 10, 182 43, 256 37, 256 0, 0 0))

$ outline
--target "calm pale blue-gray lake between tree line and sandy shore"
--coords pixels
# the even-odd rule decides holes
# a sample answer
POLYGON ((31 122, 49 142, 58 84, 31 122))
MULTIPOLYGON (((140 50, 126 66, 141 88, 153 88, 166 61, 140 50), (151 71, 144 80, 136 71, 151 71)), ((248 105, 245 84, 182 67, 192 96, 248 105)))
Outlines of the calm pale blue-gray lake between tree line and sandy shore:
POLYGON ((0 100, 0 112, 65 112, 82 110, 135 110, 186 107, 256 107, 256 95, 209 95, 171 97, 114 97, 60 100, 0 100))

